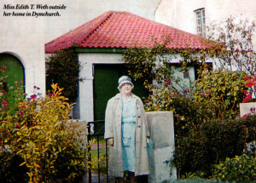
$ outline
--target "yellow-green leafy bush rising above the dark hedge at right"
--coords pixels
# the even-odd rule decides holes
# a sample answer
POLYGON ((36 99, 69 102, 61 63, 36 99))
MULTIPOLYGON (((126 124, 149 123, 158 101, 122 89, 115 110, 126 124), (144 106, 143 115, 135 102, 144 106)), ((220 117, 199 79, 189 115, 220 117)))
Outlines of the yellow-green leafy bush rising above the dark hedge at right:
POLYGON ((211 118, 235 118, 239 116, 239 103, 245 97, 245 73, 240 71, 204 70, 196 82, 195 102, 211 109, 211 118))

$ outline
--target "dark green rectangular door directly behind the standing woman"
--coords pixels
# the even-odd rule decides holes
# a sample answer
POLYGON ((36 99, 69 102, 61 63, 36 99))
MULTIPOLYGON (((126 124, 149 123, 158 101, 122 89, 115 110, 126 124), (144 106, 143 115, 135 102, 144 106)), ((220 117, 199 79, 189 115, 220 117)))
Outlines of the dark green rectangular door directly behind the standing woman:
MULTIPOLYGON (((118 80, 121 76, 128 76, 124 64, 96 64, 94 65, 94 120, 103 120, 108 100, 119 93, 118 80)), ((134 82, 132 93, 139 97, 148 95, 143 81, 134 82)))

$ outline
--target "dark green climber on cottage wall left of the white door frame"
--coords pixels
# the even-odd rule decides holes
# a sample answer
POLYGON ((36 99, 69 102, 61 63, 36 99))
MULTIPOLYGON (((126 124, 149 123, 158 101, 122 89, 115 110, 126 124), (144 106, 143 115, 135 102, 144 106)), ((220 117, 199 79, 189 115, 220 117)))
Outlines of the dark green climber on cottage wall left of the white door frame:
POLYGON ((79 89, 79 71, 80 64, 78 54, 73 48, 62 49, 59 53, 49 57, 48 85, 58 83, 62 91, 62 95, 72 100, 78 96, 79 89))

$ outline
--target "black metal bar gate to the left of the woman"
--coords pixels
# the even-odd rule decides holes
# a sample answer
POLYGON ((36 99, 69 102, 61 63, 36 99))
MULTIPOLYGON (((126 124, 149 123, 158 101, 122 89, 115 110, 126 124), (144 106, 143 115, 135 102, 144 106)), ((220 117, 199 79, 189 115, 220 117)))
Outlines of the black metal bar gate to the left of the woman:
MULTIPOLYGON (((87 130, 88 130, 88 135, 87 135, 87 144, 90 143, 91 140, 96 140, 96 144, 94 146, 89 146, 88 147, 88 182, 92 183, 92 169, 91 169, 91 161, 92 161, 92 150, 95 150, 96 147, 96 157, 97 157, 97 182, 102 182, 101 181, 101 162, 100 162, 100 139, 104 138, 104 120, 101 121, 95 121, 95 122, 89 122, 87 123, 87 130), (92 149, 93 148, 93 149, 92 149)), ((104 182, 108 182, 108 141, 104 140, 105 143, 105 154, 103 155, 106 157, 106 166, 107 166, 107 173, 106 173, 106 180, 104 182)), ((101 144, 102 145, 102 144, 101 144)))

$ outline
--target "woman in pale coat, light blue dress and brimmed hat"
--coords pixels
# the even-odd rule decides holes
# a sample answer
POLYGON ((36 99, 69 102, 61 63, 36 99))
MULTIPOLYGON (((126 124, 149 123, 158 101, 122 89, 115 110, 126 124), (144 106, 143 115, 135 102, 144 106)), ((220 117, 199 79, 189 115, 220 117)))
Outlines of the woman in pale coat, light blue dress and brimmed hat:
POLYGON ((149 174, 147 138, 148 123, 142 100, 131 94, 130 77, 119 78, 119 94, 108 100, 104 138, 109 143, 109 175, 124 182, 128 171, 130 182, 135 176, 149 174))

